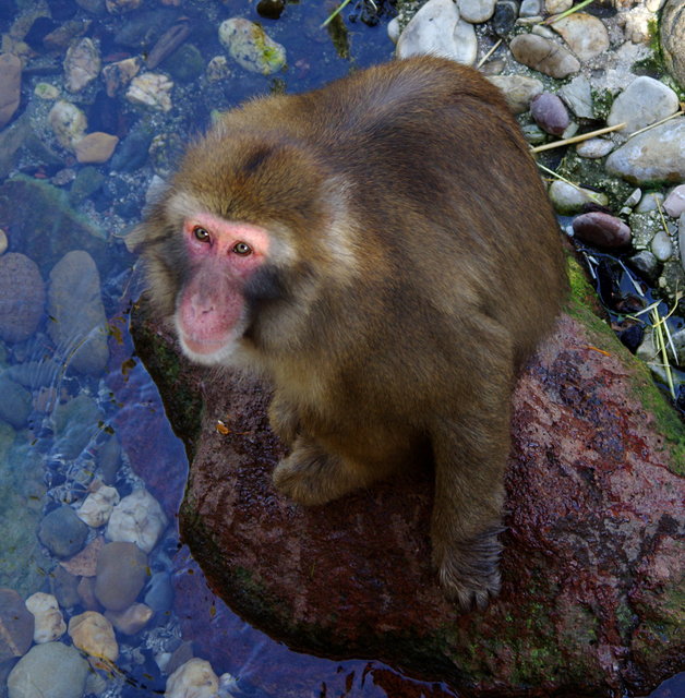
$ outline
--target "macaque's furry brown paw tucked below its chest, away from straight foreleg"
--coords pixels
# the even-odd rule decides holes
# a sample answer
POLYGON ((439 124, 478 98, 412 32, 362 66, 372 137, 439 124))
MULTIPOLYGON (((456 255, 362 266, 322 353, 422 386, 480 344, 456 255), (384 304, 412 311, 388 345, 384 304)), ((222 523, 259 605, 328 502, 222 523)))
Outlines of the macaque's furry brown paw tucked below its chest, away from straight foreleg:
POLYGON ((300 504, 325 504, 364 484, 340 456, 299 437, 292 453, 274 470, 276 489, 300 504))

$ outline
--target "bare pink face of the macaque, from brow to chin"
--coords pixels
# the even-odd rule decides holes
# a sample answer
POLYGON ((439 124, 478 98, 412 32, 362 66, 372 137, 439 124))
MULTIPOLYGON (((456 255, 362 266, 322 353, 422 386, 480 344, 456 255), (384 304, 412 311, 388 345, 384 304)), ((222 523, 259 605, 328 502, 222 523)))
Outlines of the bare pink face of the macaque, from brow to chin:
POLYGON ((190 216, 183 239, 191 268, 176 313, 181 346, 199 361, 226 358, 244 330, 243 288, 268 252, 266 230, 208 213, 190 216))

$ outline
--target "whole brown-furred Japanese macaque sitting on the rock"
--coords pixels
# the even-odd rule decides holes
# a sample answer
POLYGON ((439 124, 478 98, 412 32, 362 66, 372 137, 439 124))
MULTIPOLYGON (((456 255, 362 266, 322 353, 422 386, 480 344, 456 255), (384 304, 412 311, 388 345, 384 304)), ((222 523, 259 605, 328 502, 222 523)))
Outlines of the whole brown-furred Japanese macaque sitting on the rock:
POLYGON ((271 378, 289 446, 276 488, 323 505, 428 454, 440 581, 484 606, 515 373, 566 288, 498 91, 422 57, 250 101, 189 148, 132 236, 183 352, 271 378))

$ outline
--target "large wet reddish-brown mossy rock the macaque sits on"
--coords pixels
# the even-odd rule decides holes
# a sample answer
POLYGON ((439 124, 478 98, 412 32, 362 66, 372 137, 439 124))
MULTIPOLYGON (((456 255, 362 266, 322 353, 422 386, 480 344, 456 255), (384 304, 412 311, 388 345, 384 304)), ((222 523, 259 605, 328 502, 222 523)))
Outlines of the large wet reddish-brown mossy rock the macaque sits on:
POLYGON ((482 613, 459 614, 431 569, 430 473, 297 506, 271 483, 267 389, 184 363, 157 375, 194 450, 180 522, 211 587, 293 649, 375 657, 469 696, 644 693, 674 673, 685 432, 605 325, 570 312, 515 393, 504 583, 482 613), (204 413, 180 409, 201 382, 204 413))

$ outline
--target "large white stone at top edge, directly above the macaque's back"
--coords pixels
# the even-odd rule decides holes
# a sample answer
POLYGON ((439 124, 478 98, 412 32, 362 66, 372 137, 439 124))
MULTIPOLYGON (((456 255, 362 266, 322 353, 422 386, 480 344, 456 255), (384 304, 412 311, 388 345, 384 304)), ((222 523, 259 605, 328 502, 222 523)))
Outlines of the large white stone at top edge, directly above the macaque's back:
POLYGON ((397 58, 442 56, 458 60, 455 32, 459 11, 453 0, 429 0, 411 19, 397 40, 397 58))

